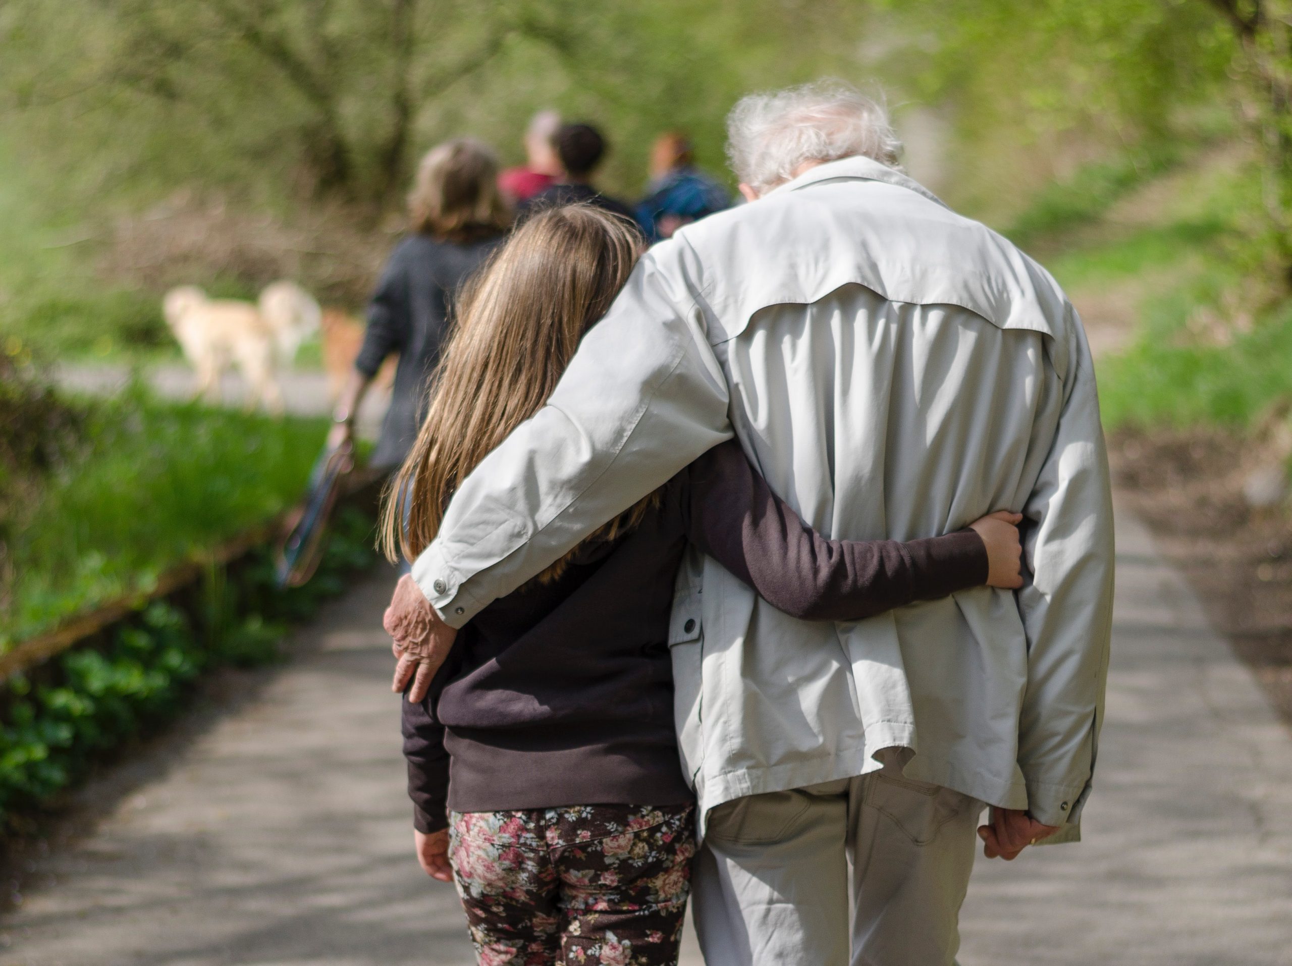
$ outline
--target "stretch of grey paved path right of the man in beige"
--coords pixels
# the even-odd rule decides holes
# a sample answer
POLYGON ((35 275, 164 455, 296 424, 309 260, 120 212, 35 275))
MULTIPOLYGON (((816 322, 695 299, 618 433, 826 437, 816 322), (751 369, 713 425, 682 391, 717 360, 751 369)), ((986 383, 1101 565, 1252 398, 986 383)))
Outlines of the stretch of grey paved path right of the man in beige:
POLYGON ((1125 511, 1112 648, 1085 842, 979 856, 963 966, 1288 966, 1292 732, 1125 511))

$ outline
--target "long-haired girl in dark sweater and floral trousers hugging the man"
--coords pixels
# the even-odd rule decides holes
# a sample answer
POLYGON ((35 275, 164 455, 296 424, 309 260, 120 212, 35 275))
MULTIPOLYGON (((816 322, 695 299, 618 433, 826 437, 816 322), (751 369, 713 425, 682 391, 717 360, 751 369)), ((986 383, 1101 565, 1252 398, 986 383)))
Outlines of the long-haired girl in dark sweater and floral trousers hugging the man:
MULTIPOLYGON (((621 218, 570 205, 517 229, 473 282, 386 501, 389 555, 416 555, 456 480, 544 406, 638 251, 621 218)), ((479 962, 677 961, 695 810, 669 644, 699 633, 671 626, 689 541, 789 613, 854 620, 1018 586, 1018 519, 904 544, 826 540, 729 440, 479 611, 403 701, 417 856, 456 877, 479 962)), ((429 607, 403 577, 386 613, 397 644, 416 648, 429 607)))

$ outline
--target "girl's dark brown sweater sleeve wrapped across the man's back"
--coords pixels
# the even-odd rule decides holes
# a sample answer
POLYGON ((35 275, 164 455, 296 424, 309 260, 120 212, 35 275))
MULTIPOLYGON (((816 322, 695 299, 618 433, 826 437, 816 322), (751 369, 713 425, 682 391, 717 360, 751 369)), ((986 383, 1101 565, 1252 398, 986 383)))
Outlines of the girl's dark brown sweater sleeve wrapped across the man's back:
POLYGON ((687 537, 776 610, 802 620, 862 620, 987 581, 972 529, 925 540, 827 540, 727 440, 689 469, 687 537))

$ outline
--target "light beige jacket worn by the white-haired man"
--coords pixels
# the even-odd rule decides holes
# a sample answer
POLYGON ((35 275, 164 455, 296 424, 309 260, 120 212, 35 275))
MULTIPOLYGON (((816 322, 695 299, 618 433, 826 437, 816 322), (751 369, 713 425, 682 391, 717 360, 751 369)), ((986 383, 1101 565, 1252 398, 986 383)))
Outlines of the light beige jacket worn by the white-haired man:
POLYGON ((693 553, 669 643, 702 814, 899 749, 910 777, 1078 838, 1112 607, 1089 349, 1044 269, 876 161, 820 165, 652 248, 413 577, 461 625, 733 434, 832 537, 1019 510, 1030 577, 805 622, 693 553))

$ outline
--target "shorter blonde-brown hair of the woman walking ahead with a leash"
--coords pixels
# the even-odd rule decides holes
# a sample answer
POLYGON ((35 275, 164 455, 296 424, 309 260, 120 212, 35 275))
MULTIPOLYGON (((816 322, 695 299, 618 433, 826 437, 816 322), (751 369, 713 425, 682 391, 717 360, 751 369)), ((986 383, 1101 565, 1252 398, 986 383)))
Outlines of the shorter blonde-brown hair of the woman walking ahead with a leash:
POLYGON ((453 138, 426 152, 408 192, 410 227, 447 242, 497 235, 512 212, 497 190, 497 155, 483 141, 453 138))

